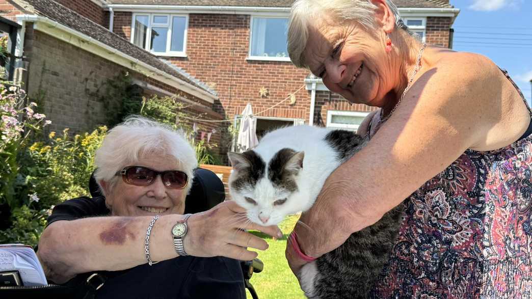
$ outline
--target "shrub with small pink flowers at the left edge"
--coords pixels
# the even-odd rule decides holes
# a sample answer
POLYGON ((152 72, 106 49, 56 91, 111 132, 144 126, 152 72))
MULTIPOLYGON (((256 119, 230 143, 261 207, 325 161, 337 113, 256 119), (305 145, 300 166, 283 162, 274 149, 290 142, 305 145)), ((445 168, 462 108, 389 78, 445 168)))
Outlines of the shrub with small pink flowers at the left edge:
POLYGON ((35 245, 47 209, 24 188, 24 157, 30 137, 50 121, 11 82, 0 82, 0 243, 35 245))

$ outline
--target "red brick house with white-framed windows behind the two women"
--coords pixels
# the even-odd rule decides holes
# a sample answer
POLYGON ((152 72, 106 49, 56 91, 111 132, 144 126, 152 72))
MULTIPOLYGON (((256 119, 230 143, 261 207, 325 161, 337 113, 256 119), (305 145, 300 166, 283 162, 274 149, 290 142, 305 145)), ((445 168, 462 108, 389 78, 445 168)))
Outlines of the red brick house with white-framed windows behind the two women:
MULTIPOLYGON (((203 122, 218 131, 224 126, 236 126, 236 119, 247 103, 252 104, 256 114, 259 136, 274 127, 302 123, 354 130, 373 109, 362 104, 348 104, 339 95, 331 93, 321 79, 290 63, 286 51, 286 26, 293 0, 0 0, 0 3, 6 2, 0 5, 2 14, 26 28, 24 51, 27 52, 24 56, 34 60, 31 64, 37 64, 37 67, 32 65, 29 68, 29 77, 46 76, 50 78, 49 84, 56 80, 53 76, 57 71, 49 70, 52 64, 43 67, 44 63, 35 62, 43 59, 31 56, 55 55, 55 60, 49 57, 47 61, 67 67, 78 62, 59 57, 75 57, 77 60, 81 54, 68 53, 76 48, 86 54, 84 62, 79 62, 85 73, 96 77, 89 80, 102 80, 101 76, 109 77, 125 68, 143 82, 138 85, 143 86, 145 92, 164 90, 174 93, 182 90, 184 85, 180 82, 189 84, 195 93, 188 93, 188 97, 200 103, 204 112, 210 112, 206 114, 209 115, 206 120, 229 120, 226 123, 203 122), (27 8, 20 3, 34 5, 39 15, 37 19, 28 16, 31 12, 23 12, 27 8), (15 17, 21 11, 26 16, 15 17), (43 18, 50 21, 43 21, 43 18), (85 25, 78 26, 78 20, 83 20, 85 25), (100 52, 87 51, 76 41, 78 36, 67 29, 63 31, 68 31, 70 37, 64 37, 63 32, 49 34, 46 28, 55 23, 81 32, 88 44, 93 44, 93 40, 100 41, 111 48, 103 47, 100 52), (101 36, 105 36, 104 40, 101 36), (39 51, 31 51, 32 43, 39 51), (115 50, 138 59, 137 64, 145 63, 155 68, 149 69, 151 72, 163 72, 160 77, 166 79, 155 82, 156 76, 146 76, 128 67, 128 63, 133 65, 136 62, 117 63, 116 55, 105 55, 115 50), (112 70, 110 65, 118 69, 112 70), (180 81, 169 79, 168 75, 180 81)), ((423 41, 452 47, 451 26, 459 10, 448 0, 394 2, 405 23, 418 32, 423 41)), ((60 30, 61 26, 54 27, 54 30, 60 30)), ((79 77, 79 74, 75 75, 79 77)), ((67 79, 74 78, 77 77, 71 72, 67 79)), ((79 85, 79 78, 72 84, 79 85)), ((29 80, 30 92, 38 90, 36 85, 36 80, 29 80)), ((90 99, 79 105, 79 99, 72 98, 72 95, 69 98, 68 93, 71 92, 57 92, 64 102, 57 104, 60 109, 54 111, 61 114, 58 118, 71 118, 70 123, 65 120, 69 126, 79 119, 80 113, 93 113, 87 113, 86 109, 77 111, 80 106, 101 105, 90 102, 90 99)), ((49 111, 53 109, 50 107, 49 111)), ((217 140, 220 140, 219 136, 217 140)), ((227 149, 220 148, 220 151, 223 154, 227 149)))

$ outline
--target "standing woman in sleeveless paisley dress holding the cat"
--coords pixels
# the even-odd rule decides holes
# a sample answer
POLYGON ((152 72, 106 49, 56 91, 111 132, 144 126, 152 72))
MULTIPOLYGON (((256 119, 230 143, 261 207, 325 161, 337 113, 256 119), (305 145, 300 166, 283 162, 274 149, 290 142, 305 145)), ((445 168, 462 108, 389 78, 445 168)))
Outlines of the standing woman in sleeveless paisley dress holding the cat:
POLYGON ((532 297, 532 112, 508 73, 422 43, 392 0, 296 0, 288 53, 377 107, 359 127, 367 145, 296 225, 293 271, 312 276, 309 261, 404 203, 372 298, 532 297))

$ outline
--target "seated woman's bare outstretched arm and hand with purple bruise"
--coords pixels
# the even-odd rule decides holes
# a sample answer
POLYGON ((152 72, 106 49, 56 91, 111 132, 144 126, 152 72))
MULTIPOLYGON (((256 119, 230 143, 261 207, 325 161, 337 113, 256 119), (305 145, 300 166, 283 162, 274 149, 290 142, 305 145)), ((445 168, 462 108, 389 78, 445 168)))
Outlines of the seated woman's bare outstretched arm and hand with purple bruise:
MULTIPOLYGON (((184 238, 186 251, 194 256, 227 256, 252 260, 256 253, 243 247, 265 250, 268 244, 242 229, 258 229, 279 236, 276 226, 261 227, 242 219, 244 209, 224 202, 192 215, 184 238), (233 220, 233 221, 231 221, 233 220)), ((165 215, 155 222, 149 239, 152 261, 176 258, 171 228, 182 215, 165 215)), ((46 277, 64 283, 79 273, 123 270, 146 263, 144 242, 152 217, 93 217, 56 221, 40 238, 37 256, 46 277)))

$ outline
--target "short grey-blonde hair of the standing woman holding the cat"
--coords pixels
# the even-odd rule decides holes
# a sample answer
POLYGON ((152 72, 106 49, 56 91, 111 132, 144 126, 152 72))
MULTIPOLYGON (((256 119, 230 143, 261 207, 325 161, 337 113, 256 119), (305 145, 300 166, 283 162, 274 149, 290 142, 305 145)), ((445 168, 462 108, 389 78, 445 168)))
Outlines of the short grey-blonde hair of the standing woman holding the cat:
MULTIPOLYGON (((386 4, 395 16, 396 28, 405 29, 399 16, 399 10, 392 0, 386 4)), ((373 16, 377 6, 371 0, 296 0, 290 12, 288 25, 288 55, 292 63, 298 68, 307 68, 303 51, 309 38, 309 24, 320 18, 320 15, 329 15, 339 21, 356 21, 365 29, 375 29, 373 16)))

